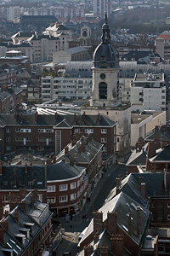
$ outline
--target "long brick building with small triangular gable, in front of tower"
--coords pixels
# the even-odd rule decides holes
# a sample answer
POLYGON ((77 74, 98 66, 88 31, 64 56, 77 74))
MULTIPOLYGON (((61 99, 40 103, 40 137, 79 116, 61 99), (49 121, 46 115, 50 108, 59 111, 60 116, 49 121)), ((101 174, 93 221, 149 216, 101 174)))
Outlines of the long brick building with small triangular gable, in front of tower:
POLYGON ((71 143, 74 133, 92 133, 94 140, 104 144, 108 157, 116 153, 116 123, 102 115, 0 115, 1 152, 54 152, 56 155, 71 143))

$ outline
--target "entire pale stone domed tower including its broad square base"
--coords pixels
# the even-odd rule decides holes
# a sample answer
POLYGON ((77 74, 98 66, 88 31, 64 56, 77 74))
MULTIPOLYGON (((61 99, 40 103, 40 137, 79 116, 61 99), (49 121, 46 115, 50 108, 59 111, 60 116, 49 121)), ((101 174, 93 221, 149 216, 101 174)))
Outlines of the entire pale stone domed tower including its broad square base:
POLYGON ((94 52, 93 86, 90 104, 82 106, 81 113, 104 114, 117 123, 116 151, 126 154, 130 148, 131 109, 119 99, 119 60, 111 44, 110 28, 105 16, 102 42, 94 52))

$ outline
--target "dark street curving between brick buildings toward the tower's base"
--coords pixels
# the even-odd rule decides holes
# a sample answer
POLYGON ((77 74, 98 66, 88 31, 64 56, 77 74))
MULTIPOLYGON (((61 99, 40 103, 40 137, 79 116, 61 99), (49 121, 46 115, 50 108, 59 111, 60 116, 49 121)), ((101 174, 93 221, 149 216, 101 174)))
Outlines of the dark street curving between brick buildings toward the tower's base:
POLYGON ((59 222, 62 224, 63 229, 65 229, 65 235, 56 250, 57 256, 62 256, 65 252, 71 252, 71 256, 77 255, 78 236, 88 226, 90 220, 93 218, 93 212, 103 206, 106 197, 116 185, 116 177, 124 176, 126 171, 127 167, 123 163, 111 166, 104 173, 104 176, 99 179, 99 183, 90 196, 91 201, 86 202, 82 210, 68 223, 65 223, 65 218, 59 218, 59 222), (82 220, 82 214, 85 213, 87 219, 82 220))

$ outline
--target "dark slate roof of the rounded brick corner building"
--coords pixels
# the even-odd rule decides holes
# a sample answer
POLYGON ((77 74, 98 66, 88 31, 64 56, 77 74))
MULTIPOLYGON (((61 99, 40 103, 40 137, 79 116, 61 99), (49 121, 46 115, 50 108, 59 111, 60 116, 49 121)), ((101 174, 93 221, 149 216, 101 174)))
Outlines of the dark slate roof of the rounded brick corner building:
POLYGON ((71 179, 79 176, 84 169, 84 167, 71 166, 66 161, 64 163, 60 160, 56 164, 47 166, 47 181, 71 179))

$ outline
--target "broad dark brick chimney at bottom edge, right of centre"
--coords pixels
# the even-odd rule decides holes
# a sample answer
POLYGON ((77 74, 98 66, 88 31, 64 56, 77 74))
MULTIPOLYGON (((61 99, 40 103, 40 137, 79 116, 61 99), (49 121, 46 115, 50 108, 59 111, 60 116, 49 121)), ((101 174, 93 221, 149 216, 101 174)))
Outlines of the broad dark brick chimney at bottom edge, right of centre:
POLYGON ((115 256, 123 256, 123 235, 114 235, 111 237, 111 253, 115 256))

